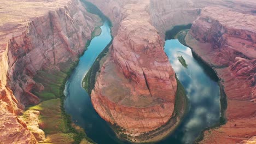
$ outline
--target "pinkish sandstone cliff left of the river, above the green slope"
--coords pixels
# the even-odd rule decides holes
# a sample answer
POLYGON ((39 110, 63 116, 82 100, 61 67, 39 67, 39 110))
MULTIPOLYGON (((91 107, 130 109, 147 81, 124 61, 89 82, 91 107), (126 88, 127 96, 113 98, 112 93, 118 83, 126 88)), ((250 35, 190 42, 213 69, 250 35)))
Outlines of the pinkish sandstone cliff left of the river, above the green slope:
POLYGON ((30 115, 26 122, 17 117, 26 105, 44 100, 35 92, 47 86, 34 77, 42 70, 65 71, 68 63, 77 61, 100 18, 88 13, 77 0, 4 0, 0 5, 0 143, 37 143, 45 139, 36 121, 40 113, 33 111, 37 115, 30 115), (26 123, 37 128, 28 128, 26 123))

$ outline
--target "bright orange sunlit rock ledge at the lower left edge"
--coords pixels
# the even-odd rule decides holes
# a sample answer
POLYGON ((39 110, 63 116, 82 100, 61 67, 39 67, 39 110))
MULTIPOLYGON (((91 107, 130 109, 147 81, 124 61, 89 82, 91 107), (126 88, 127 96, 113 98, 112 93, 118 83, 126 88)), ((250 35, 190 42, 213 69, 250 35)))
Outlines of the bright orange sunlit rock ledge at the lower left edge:
MULTIPOLYGON (((5 45, 6 46, 6 45, 5 45)), ((36 143, 33 134, 25 122, 16 115, 22 112, 11 89, 7 85, 8 58, 7 51, 0 53, 0 143, 36 143)))

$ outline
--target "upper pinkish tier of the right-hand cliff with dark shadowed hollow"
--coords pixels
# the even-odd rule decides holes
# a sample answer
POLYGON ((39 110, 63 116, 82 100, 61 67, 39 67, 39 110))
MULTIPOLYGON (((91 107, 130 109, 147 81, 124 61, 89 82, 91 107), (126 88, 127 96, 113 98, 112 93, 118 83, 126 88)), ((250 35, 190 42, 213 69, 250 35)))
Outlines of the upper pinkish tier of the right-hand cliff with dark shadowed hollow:
POLYGON ((234 62, 235 57, 256 58, 255 25, 253 15, 207 7, 194 22, 190 34, 201 43, 211 44, 211 47, 205 49, 218 53, 218 57, 212 55, 208 58, 214 59, 211 63, 228 66, 234 62), (223 13, 226 15, 222 15, 223 13))

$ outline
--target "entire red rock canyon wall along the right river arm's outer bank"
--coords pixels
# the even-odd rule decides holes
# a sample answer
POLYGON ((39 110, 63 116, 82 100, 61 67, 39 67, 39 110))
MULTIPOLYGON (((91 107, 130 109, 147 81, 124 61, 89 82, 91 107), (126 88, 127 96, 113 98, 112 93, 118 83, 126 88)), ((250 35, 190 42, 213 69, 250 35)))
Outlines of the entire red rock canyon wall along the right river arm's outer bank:
POLYGON ((186 37, 216 70, 228 99, 227 123, 206 132, 202 143, 235 143, 256 135, 255 21, 254 15, 206 7, 186 37))

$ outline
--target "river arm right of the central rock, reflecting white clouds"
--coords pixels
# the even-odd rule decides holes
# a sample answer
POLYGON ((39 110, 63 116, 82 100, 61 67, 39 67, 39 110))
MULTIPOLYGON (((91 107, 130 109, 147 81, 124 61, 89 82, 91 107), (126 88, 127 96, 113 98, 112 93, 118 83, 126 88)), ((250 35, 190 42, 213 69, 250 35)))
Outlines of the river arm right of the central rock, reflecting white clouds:
POLYGON ((211 79, 195 60, 191 50, 178 40, 166 40, 165 52, 187 91, 190 108, 177 130, 159 143, 192 143, 203 129, 219 122, 219 86, 217 80, 211 79), (185 59, 188 68, 183 67, 178 56, 185 59))

